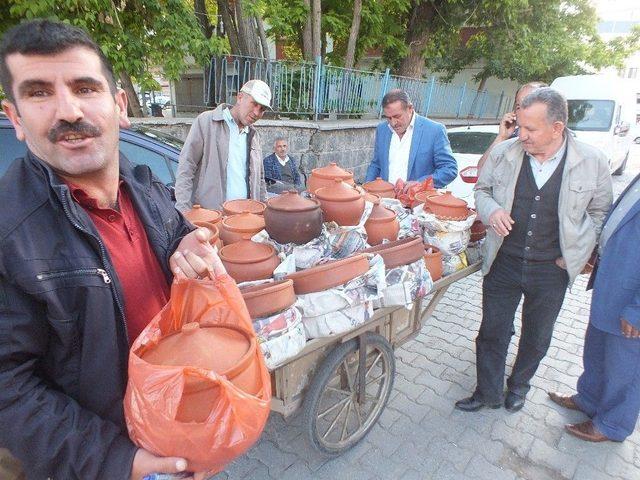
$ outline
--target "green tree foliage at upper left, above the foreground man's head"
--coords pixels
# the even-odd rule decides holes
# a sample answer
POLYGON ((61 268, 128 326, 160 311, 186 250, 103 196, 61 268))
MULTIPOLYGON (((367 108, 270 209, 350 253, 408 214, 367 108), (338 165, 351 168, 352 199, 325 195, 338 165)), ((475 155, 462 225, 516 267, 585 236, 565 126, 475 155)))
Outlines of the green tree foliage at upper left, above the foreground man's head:
MULTIPOLYGON (((6 0, 0 0, 0 5, 6 0)), ((144 90, 157 84, 151 68, 178 78, 187 58, 204 64, 226 51, 226 41, 207 40, 187 0, 12 0, 0 33, 23 20, 55 18, 86 29, 116 72, 126 72, 144 90)))

